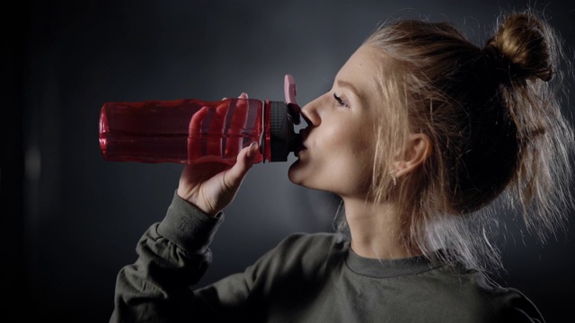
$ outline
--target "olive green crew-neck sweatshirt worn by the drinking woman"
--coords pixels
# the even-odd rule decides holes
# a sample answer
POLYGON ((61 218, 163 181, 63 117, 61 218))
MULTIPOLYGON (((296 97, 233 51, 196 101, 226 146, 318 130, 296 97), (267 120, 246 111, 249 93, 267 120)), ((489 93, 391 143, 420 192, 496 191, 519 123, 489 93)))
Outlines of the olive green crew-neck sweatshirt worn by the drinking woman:
POLYGON ((194 290, 223 220, 174 195, 119 271, 111 322, 544 322, 480 272, 362 258, 336 233, 292 234, 243 273, 194 290))

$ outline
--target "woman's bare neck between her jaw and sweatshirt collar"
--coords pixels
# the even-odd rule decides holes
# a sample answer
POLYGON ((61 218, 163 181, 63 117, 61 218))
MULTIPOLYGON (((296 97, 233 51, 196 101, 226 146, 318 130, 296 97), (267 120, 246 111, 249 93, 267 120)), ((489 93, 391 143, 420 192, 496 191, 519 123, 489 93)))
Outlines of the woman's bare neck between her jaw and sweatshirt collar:
POLYGON ((351 249, 364 258, 394 259, 414 256, 400 237, 401 218, 391 204, 373 205, 365 199, 344 198, 351 249))

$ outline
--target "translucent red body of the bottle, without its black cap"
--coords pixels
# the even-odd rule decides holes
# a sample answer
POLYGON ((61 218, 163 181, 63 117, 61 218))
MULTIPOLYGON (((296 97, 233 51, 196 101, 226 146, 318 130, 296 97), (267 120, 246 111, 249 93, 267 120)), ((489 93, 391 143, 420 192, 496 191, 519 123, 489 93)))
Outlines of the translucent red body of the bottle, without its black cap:
MULTIPOLYGON (((113 162, 224 162, 261 142, 263 104, 254 99, 109 102, 100 149, 113 162)), ((262 162, 257 153, 254 162, 262 162)))

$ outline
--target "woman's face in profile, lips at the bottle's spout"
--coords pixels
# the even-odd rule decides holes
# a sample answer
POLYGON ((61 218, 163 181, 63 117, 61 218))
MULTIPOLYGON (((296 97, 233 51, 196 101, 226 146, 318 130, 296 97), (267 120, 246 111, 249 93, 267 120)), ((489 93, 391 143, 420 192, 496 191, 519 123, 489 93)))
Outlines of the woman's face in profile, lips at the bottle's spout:
POLYGON ((375 48, 362 46, 336 75, 332 90, 305 105, 308 127, 301 131, 305 148, 288 177, 306 188, 341 197, 365 198, 373 173, 377 107, 370 89, 381 59, 375 48))

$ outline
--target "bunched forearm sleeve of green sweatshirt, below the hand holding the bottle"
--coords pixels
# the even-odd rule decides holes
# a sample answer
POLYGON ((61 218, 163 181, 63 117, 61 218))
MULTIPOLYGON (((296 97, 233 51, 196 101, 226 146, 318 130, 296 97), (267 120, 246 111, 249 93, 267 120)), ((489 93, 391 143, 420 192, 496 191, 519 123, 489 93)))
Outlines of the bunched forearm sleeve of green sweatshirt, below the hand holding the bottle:
POLYGON ((119 271, 111 322, 193 322, 206 313, 195 309, 190 287, 211 263, 208 245, 224 214, 203 214, 174 193, 161 223, 137 243, 137 261, 119 271))

